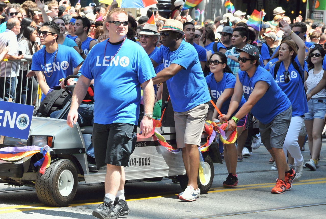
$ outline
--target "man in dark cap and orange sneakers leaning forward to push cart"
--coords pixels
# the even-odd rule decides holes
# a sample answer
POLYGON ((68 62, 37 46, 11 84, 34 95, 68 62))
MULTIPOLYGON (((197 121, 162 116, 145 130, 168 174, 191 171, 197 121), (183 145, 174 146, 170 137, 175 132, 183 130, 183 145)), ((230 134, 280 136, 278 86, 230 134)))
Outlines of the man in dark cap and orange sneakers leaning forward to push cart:
POLYGON ((259 120, 261 141, 266 149, 274 154, 278 171, 277 183, 271 193, 283 194, 287 188, 286 172, 290 171, 283 144, 292 116, 291 102, 272 75, 259 66, 258 48, 247 44, 242 49, 237 48, 237 51, 240 52, 240 70, 228 115, 222 116, 221 119, 229 122, 229 131, 234 130, 238 118, 242 118, 249 111, 259 120), (246 103, 230 119, 229 114, 238 108, 243 93, 246 103))

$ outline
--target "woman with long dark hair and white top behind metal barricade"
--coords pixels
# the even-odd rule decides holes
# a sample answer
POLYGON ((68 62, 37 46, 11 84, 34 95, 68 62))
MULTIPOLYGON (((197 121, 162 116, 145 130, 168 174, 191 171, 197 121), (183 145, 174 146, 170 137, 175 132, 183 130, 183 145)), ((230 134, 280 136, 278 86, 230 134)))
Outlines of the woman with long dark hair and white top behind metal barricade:
MULTIPOLYGON (((27 26, 22 31, 22 39, 18 42, 19 47, 22 50, 22 53, 24 55, 24 59, 32 60, 33 54, 39 50, 39 48, 36 45, 37 40, 37 31, 32 26, 27 26)), ((34 99, 37 95, 37 88, 38 84, 35 79, 35 77, 32 77, 31 79, 27 80, 27 73, 29 71, 31 64, 24 63, 23 66, 23 74, 20 74, 18 76, 18 85, 17 85, 17 92, 16 92, 16 98, 19 101, 16 101, 17 103, 26 103, 29 105, 32 105, 34 102, 34 99), (32 86, 33 81, 33 86, 32 86), (27 97, 26 97, 26 83, 27 83, 27 97), (22 92, 20 91, 22 85, 22 92), (32 95, 33 90, 33 95, 32 95)))

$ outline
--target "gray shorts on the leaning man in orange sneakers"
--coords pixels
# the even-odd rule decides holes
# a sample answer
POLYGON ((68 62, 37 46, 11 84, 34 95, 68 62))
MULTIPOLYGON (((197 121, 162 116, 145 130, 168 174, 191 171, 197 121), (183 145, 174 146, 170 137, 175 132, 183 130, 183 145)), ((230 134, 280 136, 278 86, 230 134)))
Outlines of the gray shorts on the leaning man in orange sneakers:
POLYGON ((259 131, 262 143, 267 150, 283 148, 292 117, 292 106, 277 114, 272 122, 263 124, 259 121, 259 131))

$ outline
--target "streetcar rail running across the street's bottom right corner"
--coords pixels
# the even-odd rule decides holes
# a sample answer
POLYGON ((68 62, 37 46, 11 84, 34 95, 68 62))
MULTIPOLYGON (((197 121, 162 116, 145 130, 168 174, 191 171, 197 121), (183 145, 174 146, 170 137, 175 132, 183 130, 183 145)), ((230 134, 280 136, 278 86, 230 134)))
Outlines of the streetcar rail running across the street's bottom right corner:
POLYGON ((287 209, 294 209, 294 208, 313 207, 313 206, 319 206, 319 205, 326 205, 326 202, 305 204, 305 205, 292 205, 292 206, 287 206, 287 207, 268 208, 268 209, 260 209, 260 210, 244 211, 244 212, 221 213, 221 214, 199 216, 199 217, 198 216, 197 217, 187 217, 187 218, 180 218, 180 219, 206 219, 206 218, 226 217, 226 216, 233 216, 233 215, 240 215, 240 214, 250 214, 250 213, 258 213, 258 212, 270 212, 270 211, 287 210, 287 209))

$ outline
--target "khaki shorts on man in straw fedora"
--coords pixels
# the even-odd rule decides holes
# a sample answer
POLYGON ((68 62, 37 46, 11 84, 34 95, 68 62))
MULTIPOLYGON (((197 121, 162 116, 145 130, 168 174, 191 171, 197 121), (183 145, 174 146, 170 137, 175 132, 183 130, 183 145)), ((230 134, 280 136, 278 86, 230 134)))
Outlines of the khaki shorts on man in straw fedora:
POLYGON ((186 112, 174 112, 178 148, 185 147, 185 144, 200 145, 208 107, 209 102, 199 104, 186 112))

